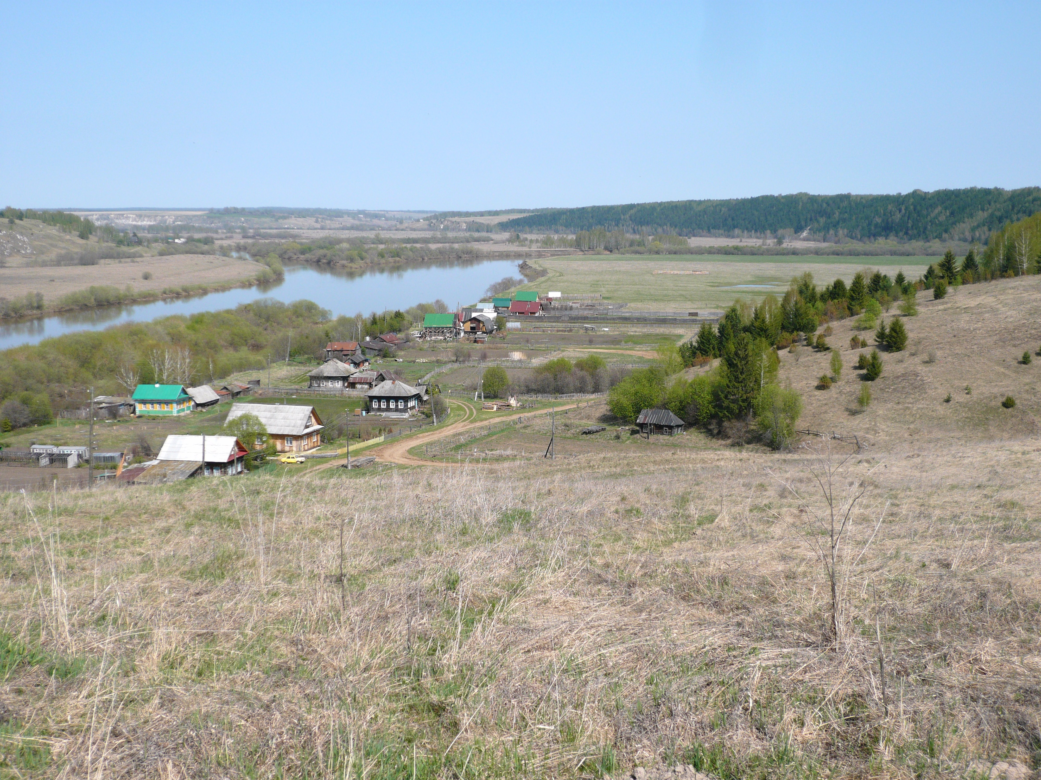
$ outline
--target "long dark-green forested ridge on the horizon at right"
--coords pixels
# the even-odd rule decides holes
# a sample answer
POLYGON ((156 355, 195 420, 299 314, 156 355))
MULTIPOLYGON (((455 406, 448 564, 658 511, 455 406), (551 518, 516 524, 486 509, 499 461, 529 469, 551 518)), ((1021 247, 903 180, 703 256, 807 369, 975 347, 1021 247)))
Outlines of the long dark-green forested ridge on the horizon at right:
POLYGON ((519 233, 625 230, 680 235, 805 234, 857 241, 986 241, 994 230, 1041 211, 1041 187, 938 189, 907 194, 806 192, 730 201, 666 201, 544 209, 499 224, 519 233))

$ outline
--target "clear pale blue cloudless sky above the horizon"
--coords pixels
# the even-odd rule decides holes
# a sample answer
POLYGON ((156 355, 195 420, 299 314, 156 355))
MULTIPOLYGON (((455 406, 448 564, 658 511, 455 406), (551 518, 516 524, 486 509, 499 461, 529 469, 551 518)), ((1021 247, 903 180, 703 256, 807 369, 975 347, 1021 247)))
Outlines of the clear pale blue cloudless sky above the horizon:
POLYGON ((1041 3, 16 3, 0 199, 491 209, 1041 184, 1041 3))

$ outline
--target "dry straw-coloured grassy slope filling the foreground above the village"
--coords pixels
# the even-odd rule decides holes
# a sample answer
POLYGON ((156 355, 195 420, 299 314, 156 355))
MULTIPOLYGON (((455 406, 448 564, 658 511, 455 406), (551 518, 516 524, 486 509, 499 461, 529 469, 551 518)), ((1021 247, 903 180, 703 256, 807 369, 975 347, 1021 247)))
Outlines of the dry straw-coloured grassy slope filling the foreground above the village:
POLYGON ((1036 761, 1033 451, 850 460, 840 492, 866 493, 840 552, 837 643, 805 450, 3 494, 0 762, 947 778, 1036 761))

